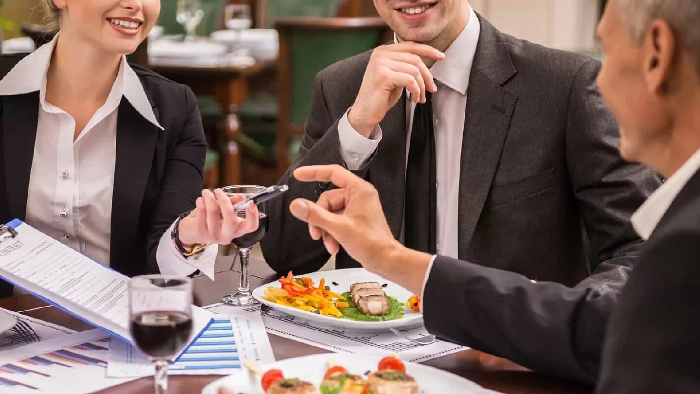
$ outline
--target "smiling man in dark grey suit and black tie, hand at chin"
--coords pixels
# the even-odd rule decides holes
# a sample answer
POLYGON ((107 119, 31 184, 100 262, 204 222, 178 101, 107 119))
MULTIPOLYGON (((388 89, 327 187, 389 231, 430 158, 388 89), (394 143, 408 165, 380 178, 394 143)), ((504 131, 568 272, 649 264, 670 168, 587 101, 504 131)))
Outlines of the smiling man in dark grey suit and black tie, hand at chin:
MULTIPOLYGON (((629 218, 659 179, 617 154, 600 63, 498 32, 466 0, 374 4, 400 42, 318 74, 281 179, 290 190, 268 207, 267 264, 306 273, 328 261, 288 212, 328 184, 291 173, 339 164, 377 188, 393 236, 412 249, 619 290, 641 242, 629 218)), ((339 250, 336 267, 353 266, 339 250)))

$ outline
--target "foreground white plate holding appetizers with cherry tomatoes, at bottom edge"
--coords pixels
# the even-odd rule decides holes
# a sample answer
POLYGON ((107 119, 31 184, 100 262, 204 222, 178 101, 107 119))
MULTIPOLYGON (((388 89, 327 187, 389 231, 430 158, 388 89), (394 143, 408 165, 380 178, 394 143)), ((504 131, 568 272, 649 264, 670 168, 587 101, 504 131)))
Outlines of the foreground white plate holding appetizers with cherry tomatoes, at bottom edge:
MULTIPOLYGON (((376 370, 381 356, 356 355, 356 354, 315 354, 304 357, 288 358, 262 366, 262 369, 281 369, 284 376, 299 378, 313 383, 317 388, 323 380, 325 369, 328 368, 328 360, 337 365, 342 365, 351 374, 363 376, 368 370, 376 370)), ((427 365, 405 362, 406 373, 413 376, 424 394, 485 394, 492 393, 477 383, 468 381, 460 376, 444 372, 441 369, 428 367, 427 365)), ((260 394, 260 376, 251 379, 247 369, 242 369, 235 374, 226 376, 209 383, 202 390, 202 394, 218 394, 221 387, 233 390, 233 393, 260 394)))

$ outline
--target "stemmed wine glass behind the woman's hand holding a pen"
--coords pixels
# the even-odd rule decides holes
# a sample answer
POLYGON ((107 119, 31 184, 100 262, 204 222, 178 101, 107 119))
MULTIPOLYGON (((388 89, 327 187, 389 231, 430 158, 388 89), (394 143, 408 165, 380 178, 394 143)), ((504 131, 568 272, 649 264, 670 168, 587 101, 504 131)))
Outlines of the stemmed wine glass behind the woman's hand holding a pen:
MULTIPOLYGON (((221 190, 228 196, 244 196, 247 198, 255 196, 255 194, 265 191, 265 189, 267 189, 265 186, 226 186, 221 190)), ((239 210, 237 214, 239 217, 246 217, 246 210, 239 210)), ((235 306, 259 304, 258 300, 253 298, 251 287, 248 283, 248 259, 251 257, 251 247, 260 242, 267 231, 268 222, 267 214, 265 213, 265 203, 258 204, 258 218, 260 219, 260 224, 257 230, 233 239, 233 245, 237 247, 238 256, 241 260, 241 281, 235 294, 228 294, 221 299, 223 304, 235 306)))

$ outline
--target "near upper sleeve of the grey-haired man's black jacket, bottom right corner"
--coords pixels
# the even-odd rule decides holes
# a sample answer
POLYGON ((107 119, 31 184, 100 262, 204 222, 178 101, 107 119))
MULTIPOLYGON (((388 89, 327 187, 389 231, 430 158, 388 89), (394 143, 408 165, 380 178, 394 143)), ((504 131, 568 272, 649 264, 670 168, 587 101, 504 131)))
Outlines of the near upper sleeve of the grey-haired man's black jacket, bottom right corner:
POLYGON ((651 243, 610 318, 596 393, 700 393, 700 230, 651 243))

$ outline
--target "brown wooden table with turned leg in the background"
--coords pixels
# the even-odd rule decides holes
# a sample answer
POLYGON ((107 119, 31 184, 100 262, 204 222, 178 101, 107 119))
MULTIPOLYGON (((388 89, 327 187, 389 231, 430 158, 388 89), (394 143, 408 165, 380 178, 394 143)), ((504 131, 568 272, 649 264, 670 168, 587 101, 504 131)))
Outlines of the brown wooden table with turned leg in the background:
MULTIPOLYGON (((223 135, 214 136, 209 143, 216 146, 222 155, 220 165, 221 184, 241 184, 241 154, 235 142, 235 135, 241 133, 241 123, 237 116, 237 107, 242 104, 252 90, 251 80, 274 79, 276 60, 258 61, 248 67, 197 67, 188 65, 149 64, 154 72, 189 86, 197 95, 213 95, 216 102, 227 111, 223 121, 223 135)), ((221 186, 221 185, 216 185, 221 186)))

